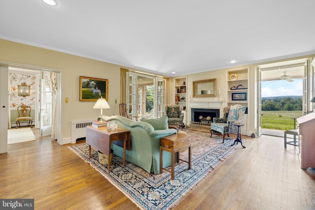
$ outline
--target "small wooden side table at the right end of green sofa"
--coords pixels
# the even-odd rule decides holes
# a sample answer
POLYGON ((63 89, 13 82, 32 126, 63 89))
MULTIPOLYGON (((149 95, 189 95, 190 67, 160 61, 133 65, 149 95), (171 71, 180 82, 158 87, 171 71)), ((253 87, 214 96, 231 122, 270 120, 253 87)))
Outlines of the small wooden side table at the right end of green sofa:
POLYGON ((159 147, 159 173, 163 173, 163 169, 171 173, 171 180, 175 178, 175 166, 178 164, 186 162, 188 163, 188 169, 191 168, 191 144, 189 135, 186 132, 180 132, 173 135, 165 136, 161 138, 161 146, 159 147), (188 161, 180 159, 180 152, 185 150, 188 152, 188 161), (171 170, 163 168, 163 150, 171 153, 171 170), (175 164, 175 153, 177 155, 177 163, 175 164))

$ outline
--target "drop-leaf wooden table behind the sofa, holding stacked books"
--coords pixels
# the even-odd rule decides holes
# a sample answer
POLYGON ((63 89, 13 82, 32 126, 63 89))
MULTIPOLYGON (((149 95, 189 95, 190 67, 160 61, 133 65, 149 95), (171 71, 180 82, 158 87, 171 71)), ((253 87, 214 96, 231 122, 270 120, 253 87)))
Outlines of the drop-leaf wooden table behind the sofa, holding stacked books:
MULTIPOLYGON (((130 150, 130 131, 122 128, 118 128, 117 131, 107 131, 107 127, 93 127, 91 125, 86 127, 86 140, 89 145, 89 158, 91 157, 91 146, 110 157, 111 144, 116 144, 124 148, 124 162, 126 150, 130 150)), ((108 159, 108 173, 110 173, 110 158, 108 159)))

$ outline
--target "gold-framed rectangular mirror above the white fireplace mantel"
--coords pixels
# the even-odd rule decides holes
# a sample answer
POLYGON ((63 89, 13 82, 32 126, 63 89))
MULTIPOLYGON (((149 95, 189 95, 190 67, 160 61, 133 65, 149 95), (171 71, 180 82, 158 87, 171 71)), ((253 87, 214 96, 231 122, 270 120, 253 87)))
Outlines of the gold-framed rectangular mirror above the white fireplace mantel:
POLYGON ((192 97, 216 97, 217 79, 192 82, 192 97))

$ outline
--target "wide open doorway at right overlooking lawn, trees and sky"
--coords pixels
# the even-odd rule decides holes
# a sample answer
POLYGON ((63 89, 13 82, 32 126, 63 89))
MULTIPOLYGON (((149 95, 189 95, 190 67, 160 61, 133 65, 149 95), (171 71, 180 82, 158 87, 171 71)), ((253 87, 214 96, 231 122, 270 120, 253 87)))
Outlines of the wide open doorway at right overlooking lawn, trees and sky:
POLYGON ((257 67, 258 136, 266 134, 283 137, 286 127, 294 129, 294 120, 310 110, 313 76, 310 75, 309 63, 310 58, 305 58, 257 67), (273 122, 278 125, 273 125, 273 122))

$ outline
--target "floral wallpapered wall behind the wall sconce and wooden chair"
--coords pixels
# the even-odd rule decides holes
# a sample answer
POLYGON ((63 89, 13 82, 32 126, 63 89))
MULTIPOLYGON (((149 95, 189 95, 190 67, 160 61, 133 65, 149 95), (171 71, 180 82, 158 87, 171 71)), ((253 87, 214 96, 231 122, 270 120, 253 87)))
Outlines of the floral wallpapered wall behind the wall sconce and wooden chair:
POLYGON ((10 109, 17 109, 20 105, 29 105, 32 109, 35 109, 35 95, 36 95, 36 84, 35 84, 35 75, 19 74, 19 73, 10 73, 9 74, 9 86, 10 86, 10 109), (18 95, 18 85, 30 86, 30 96, 19 96, 18 95))

